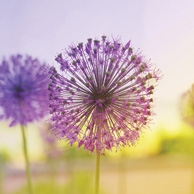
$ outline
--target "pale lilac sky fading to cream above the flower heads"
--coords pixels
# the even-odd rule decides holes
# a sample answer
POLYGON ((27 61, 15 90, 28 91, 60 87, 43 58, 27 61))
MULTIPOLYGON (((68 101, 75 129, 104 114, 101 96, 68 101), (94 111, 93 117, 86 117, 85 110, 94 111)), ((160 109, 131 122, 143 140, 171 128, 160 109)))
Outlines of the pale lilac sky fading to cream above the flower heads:
POLYGON ((53 65, 69 44, 120 36, 162 70, 154 122, 180 125, 179 101, 194 82, 193 0, 0 0, 0 58, 22 53, 53 65))

